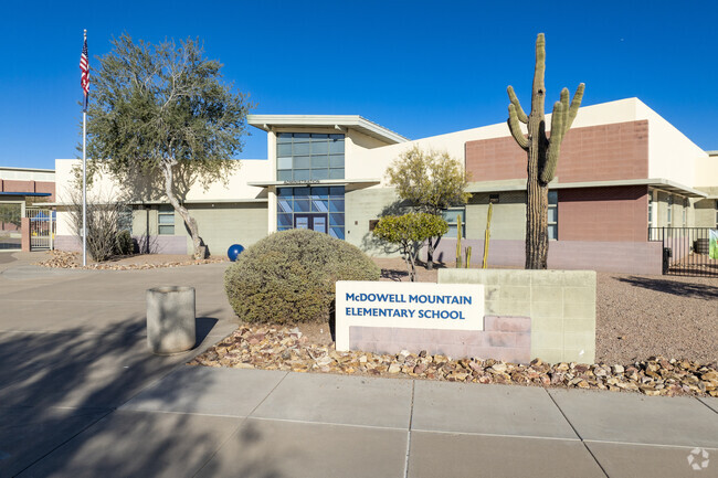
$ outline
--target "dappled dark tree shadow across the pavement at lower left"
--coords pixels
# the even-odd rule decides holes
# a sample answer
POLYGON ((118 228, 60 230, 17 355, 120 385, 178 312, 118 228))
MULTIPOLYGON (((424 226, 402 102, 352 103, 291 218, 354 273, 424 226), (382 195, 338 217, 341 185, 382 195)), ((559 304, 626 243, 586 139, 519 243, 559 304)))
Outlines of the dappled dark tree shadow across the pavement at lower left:
MULTIPOLYGON (((215 323, 198 320, 198 342, 215 323)), ((159 357, 146 340, 134 320, 110 333, 0 332, 0 477, 175 477, 205 466, 241 419, 116 411, 201 351, 159 357)), ((194 392, 167 387, 163 402, 196 399, 188 393, 204 380, 194 392)))

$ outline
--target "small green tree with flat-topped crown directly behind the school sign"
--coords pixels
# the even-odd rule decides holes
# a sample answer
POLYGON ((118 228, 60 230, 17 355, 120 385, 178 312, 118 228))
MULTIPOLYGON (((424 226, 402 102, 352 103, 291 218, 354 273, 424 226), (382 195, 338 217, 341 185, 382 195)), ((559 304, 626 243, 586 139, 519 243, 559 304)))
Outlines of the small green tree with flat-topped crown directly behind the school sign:
POLYGON ((441 237, 448 231, 446 221, 440 215, 426 212, 410 212, 404 215, 386 215, 379 220, 372 234, 399 246, 409 278, 416 280, 416 258, 426 240, 441 237))

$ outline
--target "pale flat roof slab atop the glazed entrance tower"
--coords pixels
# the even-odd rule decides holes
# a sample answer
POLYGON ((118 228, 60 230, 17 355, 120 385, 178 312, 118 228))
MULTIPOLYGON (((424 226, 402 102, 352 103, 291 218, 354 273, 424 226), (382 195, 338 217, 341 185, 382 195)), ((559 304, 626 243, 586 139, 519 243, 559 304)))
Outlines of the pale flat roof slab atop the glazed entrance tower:
POLYGON ((351 128, 391 145, 409 141, 408 138, 359 115, 247 115, 246 123, 264 131, 275 127, 329 127, 337 130, 351 128))

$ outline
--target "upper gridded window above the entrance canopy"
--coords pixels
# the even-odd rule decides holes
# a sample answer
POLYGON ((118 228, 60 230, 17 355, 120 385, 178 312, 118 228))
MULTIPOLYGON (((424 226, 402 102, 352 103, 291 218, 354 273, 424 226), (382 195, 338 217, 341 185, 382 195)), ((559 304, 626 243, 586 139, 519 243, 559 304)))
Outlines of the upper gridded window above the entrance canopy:
POLYGON ((277 134, 277 181, 344 179, 344 135, 277 134))

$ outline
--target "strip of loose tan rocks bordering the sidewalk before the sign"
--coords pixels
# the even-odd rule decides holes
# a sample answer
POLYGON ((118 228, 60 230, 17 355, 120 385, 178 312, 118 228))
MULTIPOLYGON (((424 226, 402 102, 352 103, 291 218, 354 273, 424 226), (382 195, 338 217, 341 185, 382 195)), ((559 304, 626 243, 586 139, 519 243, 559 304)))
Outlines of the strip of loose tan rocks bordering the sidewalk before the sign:
POLYGON ((426 352, 402 351, 395 355, 337 352, 331 344, 313 342, 298 328, 282 327, 240 327, 193 359, 190 365, 595 389, 640 392, 650 396, 718 396, 716 367, 687 360, 651 358, 623 365, 550 365, 534 360, 524 365, 492 359, 453 360, 426 352))

